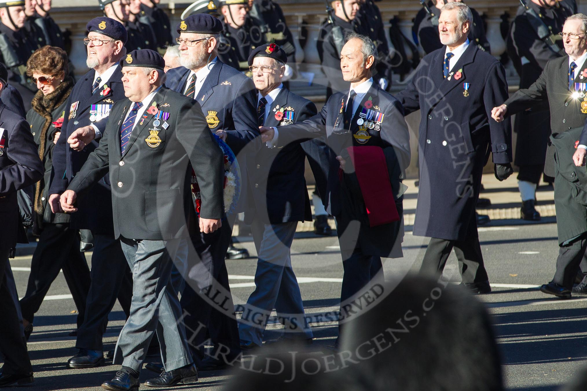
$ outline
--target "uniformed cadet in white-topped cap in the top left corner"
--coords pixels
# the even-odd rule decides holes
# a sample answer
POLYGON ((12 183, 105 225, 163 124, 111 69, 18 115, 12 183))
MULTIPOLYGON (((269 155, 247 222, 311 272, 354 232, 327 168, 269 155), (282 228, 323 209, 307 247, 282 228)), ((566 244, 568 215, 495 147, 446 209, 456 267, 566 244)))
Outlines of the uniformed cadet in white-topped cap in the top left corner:
POLYGON ((19 91, 25 110, 29 111, 37 87, 26 75, 26 60, 36 49, 45 46, 45 37, 38 28, 33 35, 23 29, 26 20, 24 5, 24 0, 0 0, 0 62, 8 69, 7 81, 19 91))

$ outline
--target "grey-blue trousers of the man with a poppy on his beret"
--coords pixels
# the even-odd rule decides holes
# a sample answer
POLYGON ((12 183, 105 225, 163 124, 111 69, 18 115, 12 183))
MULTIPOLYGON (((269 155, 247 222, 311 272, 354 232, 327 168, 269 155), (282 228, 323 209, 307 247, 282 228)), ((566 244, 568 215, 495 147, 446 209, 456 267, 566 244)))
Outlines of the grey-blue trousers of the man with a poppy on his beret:
POLYGON ((238 326, 238 334, 245 341, 262 345, 273 308, 286 332, 292 332, 286 333, 286 338, 288 335, 313 337, 305 324, 302 295, 292 269, 291 245, 297 226, 298 222, 264 224, 254 220, 251 223, 258 261, 255 290, 247 300, 238 326))

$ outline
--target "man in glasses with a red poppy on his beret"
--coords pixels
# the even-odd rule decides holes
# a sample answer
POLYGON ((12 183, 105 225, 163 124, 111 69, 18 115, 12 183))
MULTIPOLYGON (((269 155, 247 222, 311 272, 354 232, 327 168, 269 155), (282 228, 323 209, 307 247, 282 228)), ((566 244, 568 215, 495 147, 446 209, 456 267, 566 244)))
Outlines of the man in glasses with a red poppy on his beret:
MULTIPOLYGON (((259 90, 257 115, 261 126, 285 126, 317 113, 311 101, 292 93, 281 83, 286 62, 285 50, 275 43, 258 46, 249 55, 249 69, 259 90)), ((287 131, 286 127, 281 129, 287 131)), ((290 251, 298 222, 312 221, 304 179, 305 157, 299 142, 284 148, 262 145, 255 154, 253 171, 248 172, 251 198, 245 222, 251 224, 258 261, 255 290, 242 309, 239 324, 241 349, 262 345, 266 320, 274 308, 278 317, 284 319, 288 331, 285 338, 295 336, 310 341, 313 338, 304 320, 302 295, 290 251), (258 324, 257 319, 265 322, 258 324)))

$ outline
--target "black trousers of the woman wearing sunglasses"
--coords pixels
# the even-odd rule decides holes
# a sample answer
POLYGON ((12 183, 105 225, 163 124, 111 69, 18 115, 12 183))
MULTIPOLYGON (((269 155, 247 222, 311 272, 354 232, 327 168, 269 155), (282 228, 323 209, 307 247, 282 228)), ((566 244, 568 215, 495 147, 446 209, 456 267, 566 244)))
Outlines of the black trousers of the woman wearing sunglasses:
POLYGON ((77 308, 77 327, 83 323, 87 292, 90 288, 90 269, 86 257, 79 250, 79 233, 69 223, 45 224, 31 261, 31 274, 25 297, 21 299, 22 317, 33 322, 35 313, 49 287, 63 270, 63 276, 77 308))

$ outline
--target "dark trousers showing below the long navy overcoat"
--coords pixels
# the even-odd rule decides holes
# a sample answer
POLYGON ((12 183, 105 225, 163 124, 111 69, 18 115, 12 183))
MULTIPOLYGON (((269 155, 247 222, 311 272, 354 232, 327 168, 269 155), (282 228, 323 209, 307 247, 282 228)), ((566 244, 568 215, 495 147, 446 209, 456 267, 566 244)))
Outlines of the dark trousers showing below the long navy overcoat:
POLYGON ((481 283, 489 279, 483 264, 481 244, 479 244, 477 236, 463 241, 431 238, 426 254, 424 254, 420 273, 436 277, 441 275, 453 248, 457 255, 463 283, 481 283))

